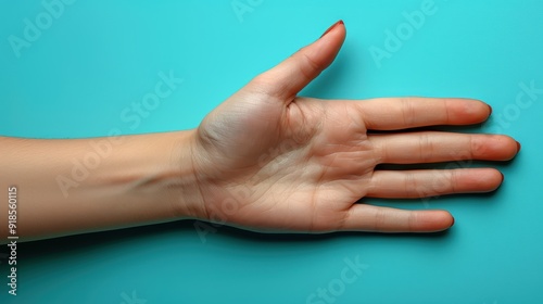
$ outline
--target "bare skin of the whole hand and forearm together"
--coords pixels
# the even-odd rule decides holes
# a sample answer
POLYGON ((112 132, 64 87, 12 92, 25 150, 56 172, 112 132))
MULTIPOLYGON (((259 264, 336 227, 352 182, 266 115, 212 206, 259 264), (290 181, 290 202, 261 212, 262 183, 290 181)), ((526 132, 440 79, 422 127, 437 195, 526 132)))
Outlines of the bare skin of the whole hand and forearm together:
MULTIPOLYGON (((498 170, 376 166, 507 161, 520 145, 502 135, 404 131, 481 123, 491 107, 478 100, 299 97, 331 64, 345 34, 344 25, 337 23, 314 43, 256 76, 197 129, 117 138, 67 195, 58 177, 71 176, 71 160, 91 151, 91 141, 106 139, 0 138, 0 166, 7 172, 0 176, 0 195, 7 198, 8 186, 17 186, 17 236, 34 240, 187 218, 263 232, 450 228, 454 218, 446 211, 357 201, 493 191, 503 181, 498 170)), ((5 204, 0 207, 2 214, 8 212, 5 204)), ((7 221, 0 218, 3 236, 9 233, 7 221)))

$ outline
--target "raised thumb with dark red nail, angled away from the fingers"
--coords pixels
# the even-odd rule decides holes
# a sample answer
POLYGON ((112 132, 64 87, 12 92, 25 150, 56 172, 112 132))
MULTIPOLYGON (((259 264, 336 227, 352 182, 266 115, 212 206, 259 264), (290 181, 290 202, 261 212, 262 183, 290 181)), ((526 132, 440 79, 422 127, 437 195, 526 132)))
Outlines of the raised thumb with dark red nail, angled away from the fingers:
POLYGON ((345 40, 345 35, 343 21, 337 22, 317 41, 256 76, 249 85, 270 97, 291 102, 298 92, 332 63, 345 40))

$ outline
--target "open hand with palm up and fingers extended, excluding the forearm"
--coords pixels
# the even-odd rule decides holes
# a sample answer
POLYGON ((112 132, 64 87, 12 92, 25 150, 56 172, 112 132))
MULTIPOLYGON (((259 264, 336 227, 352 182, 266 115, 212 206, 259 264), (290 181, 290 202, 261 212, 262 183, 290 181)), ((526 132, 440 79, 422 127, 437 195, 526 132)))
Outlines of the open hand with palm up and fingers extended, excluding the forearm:
POLYGON ((275 232, 439 231, 454 223, 446 211, 356 202, 364 197, 488 192, 501 185, 503 175, 493 168, 376 169, 383 163, 514 157, 519 145, 506 136, 401 132, 481 123, 491 109, 480 101, 298 97, 333 61, 344 38, 343 23, 337 23, 205 117, 194 134, 192 151, 204 202, 201 218, 275 232))

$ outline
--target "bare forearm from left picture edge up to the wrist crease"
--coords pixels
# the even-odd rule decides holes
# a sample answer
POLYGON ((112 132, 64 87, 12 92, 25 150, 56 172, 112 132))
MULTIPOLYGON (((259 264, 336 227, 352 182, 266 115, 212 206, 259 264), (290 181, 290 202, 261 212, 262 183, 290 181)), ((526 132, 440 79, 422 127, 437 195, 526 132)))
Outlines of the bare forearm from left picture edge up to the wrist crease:
POLYGON ((190 218, 200 207, 193 131, 38 140, 0 138, 0 231, 15 186, 20 240, 190 218))

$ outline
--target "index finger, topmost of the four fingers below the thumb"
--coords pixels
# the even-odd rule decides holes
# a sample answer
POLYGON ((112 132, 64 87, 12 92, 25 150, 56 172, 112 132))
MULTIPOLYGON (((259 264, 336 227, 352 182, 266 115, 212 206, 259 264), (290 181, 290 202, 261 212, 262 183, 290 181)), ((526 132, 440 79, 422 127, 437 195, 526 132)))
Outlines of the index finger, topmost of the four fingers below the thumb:
POLYGON ((472 125, 492 112, 487 103, 465 98, 379 98, 357 103, 367 129, 397 130, 438 125, 472 125))

